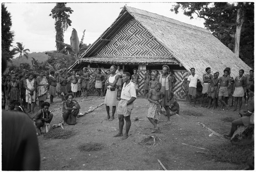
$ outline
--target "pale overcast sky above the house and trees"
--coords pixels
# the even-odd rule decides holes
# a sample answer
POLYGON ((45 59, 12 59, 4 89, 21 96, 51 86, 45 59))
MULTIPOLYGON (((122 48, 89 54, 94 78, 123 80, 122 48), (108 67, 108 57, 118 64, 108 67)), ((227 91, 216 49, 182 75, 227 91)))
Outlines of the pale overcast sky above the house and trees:
MULTIPOLYGON (((56 2, 56 1, 55 1, 56 2)), ((133 8, 145 10, 148 12, 163 15, 173 18, 194 26, 204 28, 203 19, 190 19, 182 14, 182 12, 175 14, 170 11, 175 3, 162 3, 151 1, 150 3, 139 1, 136 2, 87 2, 67 3, 67 7, 71 7, 74 11, 70 14, 72 26, 70 26, 64 35, 64 42, 70 44, 70 36, 72 29, 76 29, 78 38, 81 40, 83 30, 83 43, 92 44, 96 39, 106 30, 118 17, 123 6, 130 6, 133 8)), ((45 52, 56 50, 55 47, 55 20, 49 16, 51 10, 56 3, 17 3, 7 2, 5 6, 8 12, 11 13, 12 27, 14 31, 14 41, 22 42, 25 48, 29 48, 32 52, 45 52)), ((18 55, 16 55, 18 56, 18 55)))

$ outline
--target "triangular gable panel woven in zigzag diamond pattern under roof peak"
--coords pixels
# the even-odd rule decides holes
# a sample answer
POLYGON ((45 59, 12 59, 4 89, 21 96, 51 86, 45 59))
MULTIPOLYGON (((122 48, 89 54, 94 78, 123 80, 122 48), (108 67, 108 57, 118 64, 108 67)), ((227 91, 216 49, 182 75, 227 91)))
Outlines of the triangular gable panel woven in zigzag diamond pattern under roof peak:
POLYGON ((97 54, 100 56, 172 56, 150 32, 135 19, 130 20, 97 54))

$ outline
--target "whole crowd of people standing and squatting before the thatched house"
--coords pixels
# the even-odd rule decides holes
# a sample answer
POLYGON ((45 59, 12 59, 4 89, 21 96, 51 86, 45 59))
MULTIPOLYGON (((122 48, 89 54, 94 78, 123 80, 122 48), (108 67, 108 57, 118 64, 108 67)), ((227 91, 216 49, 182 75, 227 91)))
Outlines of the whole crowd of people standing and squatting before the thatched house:
MULTIPOLYGON (((104 104, 106 109, 106 120, 112 121, 115 118, 116 106, 119 120, 119 131, 114 137, 129 137, 131 127, 131 114, 134 107, 134 101, 138 96, 139 75, 138 70, 133 69, 133 75, 120 69, 119 66, 112 65, 107 72, 102 73, 101 69, 96 69, 93 73, 84 67, 82 71, 72 71, 71 73, 55 73, 50 71, 48 74, 44 71, 35 75, 33 73, 21 73, 21 75, 6 75, 2 76, 2 109, 8 106, 8 111, 3 112, 3 116, 10 115, 10 111, 20 111, 18 113, 31 113, 32 119, 38 135, 41 132, 49 130, 50 122, 53 119, 53 114, 49 111, 51 104, 54 104, 54 97, 59 96, 62 100, 62 117, 63 125, 75 125, 76 118, 79 114, 80 105, 74 98, 82 96, 88 97, 90 86, 94 83, 94 87, 98 96, 105 96, 104 104), (90 77, 92 75, 93 77, 90 77), (92 78, 92 79, 91 79, 92 78), (48 93, 50 95, 50 103, 46 102, 48 93), (40 107, 37 112, 34 112, 36 100, 40 107), (118 102, 119 101, 119 102, 118 102), (110 115, 110 107, 112 114, 110 115), (125 124, 125 133, 123 127, 125 124), (45 130, 45 131, 42 131, 45 130)), ((215 72, 211 75, 210 67, 205 69, 205 74, 202 76, 202 90, 198 89, 200 76, 195 73, 195 68, 190 69, 191 75, 183 82, 185 95, 189 100, 191 107, 196 107, 196 102, 201 93, 201 107, 215 109, 218 107, 218 101, 221 104, 221 109, 229 109, 229 97, 234 99, 233 111, 241 110, 242 99, 244 97, 245 104, 248 103, 251 97, 249 110, 242 115, 241 119, 236 119, 232 122, 231 131, 226 138, 230 138, 238 125, 251 125, 253 122, 254 104, 254 75, 253 70, 250 70, 249 76, 244 76, 244 70, 238 71, 238 76, 232 78, 230 76, 230 68, 223 70, 223 76, 219 77, 220 73, 215 72), (194 104, 192 104, 194 100, 194 104)), ((158 123, 162 108, 166 111, 167 122, 170 121, 170 116, 179 114, 179 103, 175 99, 174 94, 174 71, 169 69, 169 66, 163 65, 162 71, 158 70, 151 72, 146 70, 144 75, 144 96, 148 100, 147 118, 153 125, 152 133, 159 131, 158 123)), ((231 106, 233 101, 231 103, 231 106)), ((16 114, 16 113, 15 113, 16 114)), ((31 116, 31 115, 30 115, 31 116)), ((24 116, 23 116, 24 117, 24 116)), ((3 120, 9 121, 8 118, 3 120)), ((17 121, 18 122, 18 121, 17 121)), ((6 123, 7 124, 7 123, 6 123)), ((4 127, 5 145, 8 147, 8 139, 6 133, 8 126, 4 127)), ((31 125, 30 125, 31 128, 31 125)), ((16 130, 16 129, 15 129, 16 130)), ((33 135, 33 134, 32 134, 33 135)), ((33 135, 34 137, 34 135, 33 135)), ((32 137, 31 137, 32 138, 32 137)), ((37 142, 33 143, 33 145, 37 142)), ((35 148, 38 154, 38 148, 35 148)), ((38 156, 38 155, 36 155, 38 156)), ((27 157, 29 159, 29 157, 27 157)), ((16 161, 15 161, 16 162, 16 161)), ((6 162, 11 164, 11 162, 6 162)), ((31 169, 38 168, 38 158, 36 166, 31 169)), ((7 169, 7 168, 6 168, 7 169)), ((10 169, 10 168, 8 168, 10 169)))

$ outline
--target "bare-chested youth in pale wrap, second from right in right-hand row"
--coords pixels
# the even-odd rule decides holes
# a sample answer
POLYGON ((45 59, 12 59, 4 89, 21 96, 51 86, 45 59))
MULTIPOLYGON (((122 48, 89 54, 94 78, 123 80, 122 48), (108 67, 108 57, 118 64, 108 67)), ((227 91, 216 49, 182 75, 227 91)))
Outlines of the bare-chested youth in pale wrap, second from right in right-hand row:
POLYGON ((242 106, 242 97, 244 96, 244 88, 246 86, 246 78, 243 77, 244 70, 239 70, 239 76, 234 79, 234 109, 233 111, 237 110, 237 105, 239 104, 239 111, 241 110, 242 106))

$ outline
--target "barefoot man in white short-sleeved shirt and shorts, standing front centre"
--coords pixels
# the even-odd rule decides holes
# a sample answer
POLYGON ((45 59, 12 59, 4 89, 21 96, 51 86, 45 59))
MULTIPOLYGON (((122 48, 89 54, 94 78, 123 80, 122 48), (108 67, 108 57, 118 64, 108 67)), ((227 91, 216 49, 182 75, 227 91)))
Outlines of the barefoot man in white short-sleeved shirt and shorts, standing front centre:
POLYGON ((131 82, 131 74, 129 72, 123 72, 123 88, 121 92, 121 100, 118 103, 117 113, 119 119, 119 132, 114 137, 123 136, 122 139, 129 137, 128 132, 131 127, 131 113, 133 110, 133 102, 136 100, 136 89, 134 84, 131 82), (123 135, 124 119, 126 121, 125 133, 123 135))

